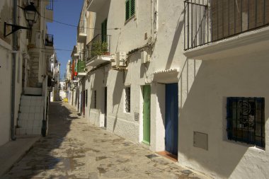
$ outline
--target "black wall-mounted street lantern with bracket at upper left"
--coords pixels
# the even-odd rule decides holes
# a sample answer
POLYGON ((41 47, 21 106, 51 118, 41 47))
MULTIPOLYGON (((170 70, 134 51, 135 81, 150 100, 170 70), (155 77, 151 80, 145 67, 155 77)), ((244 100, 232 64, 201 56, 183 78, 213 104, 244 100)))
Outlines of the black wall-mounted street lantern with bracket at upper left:
POLYGON ((38 21, 38 10, 35 8, 35 5, 33 2, 30 3, 30 5, 23 7, 20 7, 24 11, 25 19, 28 21, 29 28, 23 27, 20 25, 14 25, 10 23, 4 23, 4 37, 11 35, 12 33, 15 33, 17 30, 20 29, 31 29, 33 27, 33 24, 38 21), (6 33, 7 28, 11 27, 11 33, 6 33))

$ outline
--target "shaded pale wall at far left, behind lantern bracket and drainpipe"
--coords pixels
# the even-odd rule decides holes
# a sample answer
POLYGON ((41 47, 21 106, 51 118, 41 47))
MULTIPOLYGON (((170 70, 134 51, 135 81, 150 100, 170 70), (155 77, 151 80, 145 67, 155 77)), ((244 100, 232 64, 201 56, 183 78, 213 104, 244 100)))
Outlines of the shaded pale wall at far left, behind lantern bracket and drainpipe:
MULTIPOLYGON (((4 22, 12 22, 12 2, 1 1, 0 13, 1 13, 1 30, 0 30, 0 146, 9 141, 11 130, 11 78, 12 78, 12 35, 4 37, 4 22)), ((18 12, 18 21, 21 19, 23 13, 18 12)), ((20 21, 24 25, 24 21, 20 21)), ((9 31, 8 31, 9 32, 9 31)), ((21 99, 22 90, 22 70, 23 70, 23 52, 25 52, 25 31, 21 30, 17 32, 18 45, 20 49, 15 52, 16 54, 16 69, 13 71, 15 74, 15 104, 14 104, 14 125, 17 124, 18 110, 21 99)))

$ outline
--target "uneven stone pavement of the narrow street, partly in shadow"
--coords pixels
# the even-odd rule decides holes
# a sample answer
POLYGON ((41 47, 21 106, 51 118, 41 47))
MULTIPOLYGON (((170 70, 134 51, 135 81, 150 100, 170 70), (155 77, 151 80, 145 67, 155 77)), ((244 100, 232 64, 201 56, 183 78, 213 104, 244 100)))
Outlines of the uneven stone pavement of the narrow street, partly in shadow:
POLYGON ((206 178, 89 125, 67 103, 50 104, 49 130, 2 178, 206 178))

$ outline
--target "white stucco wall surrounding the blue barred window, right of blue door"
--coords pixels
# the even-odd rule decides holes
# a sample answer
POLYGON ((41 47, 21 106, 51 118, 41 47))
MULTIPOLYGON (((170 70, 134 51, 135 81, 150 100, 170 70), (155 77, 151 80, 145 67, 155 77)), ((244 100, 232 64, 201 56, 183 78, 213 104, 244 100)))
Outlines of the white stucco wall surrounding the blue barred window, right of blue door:
MULTIPOLYGON (((268 54, 202 62, 185 96, 179 117, 178 161, 217 178, 267 178, 268 144, 265 150, 227 139, 227 97, 265 98, 265 141, 268 139, 268 54), (208 151, 193 147, 193 132, 208 134, 208 151)), ((193 76, 184 71, 186 80, 193 76)))

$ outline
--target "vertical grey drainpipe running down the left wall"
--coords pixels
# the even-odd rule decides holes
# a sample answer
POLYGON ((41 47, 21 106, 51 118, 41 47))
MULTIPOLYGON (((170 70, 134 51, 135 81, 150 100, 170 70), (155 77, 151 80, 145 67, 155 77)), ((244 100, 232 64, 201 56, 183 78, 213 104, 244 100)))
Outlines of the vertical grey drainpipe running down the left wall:
MULTIPOLYGON (((13 0, 13 24, 17 25, 17 0, 13 0)), ((17 33, 12 35, 12 79, 11 79, 11 140, 16 140, 15 137, 15 88, 16 88, 16 50, 17 50, 17 33)))

